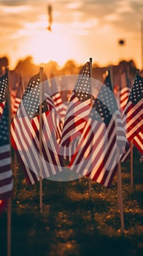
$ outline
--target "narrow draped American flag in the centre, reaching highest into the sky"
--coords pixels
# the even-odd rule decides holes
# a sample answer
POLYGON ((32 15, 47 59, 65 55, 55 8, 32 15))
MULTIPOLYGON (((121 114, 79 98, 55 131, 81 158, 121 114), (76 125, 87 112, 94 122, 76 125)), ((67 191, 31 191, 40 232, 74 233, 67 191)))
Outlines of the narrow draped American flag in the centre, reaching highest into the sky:
POLYGON ((90 113, 90 62, 80 70, 66 110, 61 136, 61 154, 71 159, 90 113))

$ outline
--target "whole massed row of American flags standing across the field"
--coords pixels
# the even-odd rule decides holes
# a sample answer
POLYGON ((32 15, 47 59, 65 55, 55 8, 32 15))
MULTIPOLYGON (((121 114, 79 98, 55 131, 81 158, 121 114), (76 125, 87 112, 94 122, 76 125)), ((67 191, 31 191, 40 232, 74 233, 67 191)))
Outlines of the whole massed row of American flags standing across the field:
POLYGON ((87 62, 68 104, 53 75, 40 79, 12 91, 7 70, 0 78, 0 200, 12 195, 11 144, 29 184, 70 170, 110 187, 131 140, 143 154, 143 78, 131 86, 123 72, 115 95, 110 72, 100 83, 87 62))

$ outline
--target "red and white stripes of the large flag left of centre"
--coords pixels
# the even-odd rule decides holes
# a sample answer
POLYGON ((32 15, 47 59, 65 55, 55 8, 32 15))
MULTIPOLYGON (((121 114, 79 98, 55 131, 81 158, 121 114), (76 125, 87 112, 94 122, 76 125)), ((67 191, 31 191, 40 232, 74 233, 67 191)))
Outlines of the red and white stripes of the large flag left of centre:
POLYGON ((53 129, 52 116, 49 111, 42 113, 42 157, 39 154, 39 117, 29 120, 24 107, 18 109, 12 121, 12 146, 18 151, 29 184, 62 171, 61 159, 58 155, 58 143, 53 129), (42 170, 39 170, 39 159, 42 170))

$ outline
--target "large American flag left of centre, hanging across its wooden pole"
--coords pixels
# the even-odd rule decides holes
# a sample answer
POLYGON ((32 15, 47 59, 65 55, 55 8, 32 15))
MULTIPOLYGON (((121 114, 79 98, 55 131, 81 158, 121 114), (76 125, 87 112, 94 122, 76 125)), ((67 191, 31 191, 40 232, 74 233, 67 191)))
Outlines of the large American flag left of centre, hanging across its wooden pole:
POLYGON ((42 178, 48 178, 62 171, 59 147, 53 129, 53 112, 48 110, 45 98, 40 102, 42 156, 39 155, 39 86, 42 84, 39 85, 39 74, 37 74, 29 80, 11 127, 12 146, 18 151, 29 184, 39 181, 39 159, 42 160, 42 178))

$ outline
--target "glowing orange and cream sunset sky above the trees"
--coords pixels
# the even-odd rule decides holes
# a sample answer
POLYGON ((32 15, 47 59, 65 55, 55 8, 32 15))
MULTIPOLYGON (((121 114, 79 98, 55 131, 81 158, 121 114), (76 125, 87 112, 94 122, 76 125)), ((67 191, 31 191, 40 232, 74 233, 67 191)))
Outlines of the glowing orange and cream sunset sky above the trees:
POLYGON ((141 69, 142 19, 142 0, 0 0, 0 57, 9 58, 10 68, 31 55, 36 64, 53 60, 61 66, 68 59, 82 64, 92 57, 99 65, 134 59, 141 69))

